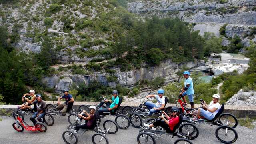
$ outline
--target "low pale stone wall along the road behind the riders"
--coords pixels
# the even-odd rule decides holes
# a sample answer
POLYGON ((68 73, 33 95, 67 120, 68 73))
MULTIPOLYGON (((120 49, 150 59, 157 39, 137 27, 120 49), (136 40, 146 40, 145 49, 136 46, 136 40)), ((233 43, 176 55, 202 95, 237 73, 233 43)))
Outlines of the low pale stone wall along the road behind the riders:
MULTIPOLYGON (((46 104, 52 104, 52 101, 45 101, 46 104)), ((63 101, 62 101, 63 103, 63 101)), ((87 106, 98 104, 99 102, 74 102, 74 109, 77 110, 78 106, 84 104, 87 106)), ((124 106, 132 106, 136 107, 139 106, 139 102, 122 102, 121 108, 124 106)), ((0 105, 0 114, 2 114, 1 109, 6 109, 6 111, 15 110, 18 105, 0 105)), ((175 106, 175 104, 166 104, 166 107, 168 106, 175 106)), ((199 107, 200 104, 195 104, 195 107, 199 107)), ((190 108, 190 105, 188 104, 187 108, 190 108)), ((237 118, 256 118, 256 106, 230 106, 225 105, 224 112, 228 112, 231 114, 234 114, 237 118)))

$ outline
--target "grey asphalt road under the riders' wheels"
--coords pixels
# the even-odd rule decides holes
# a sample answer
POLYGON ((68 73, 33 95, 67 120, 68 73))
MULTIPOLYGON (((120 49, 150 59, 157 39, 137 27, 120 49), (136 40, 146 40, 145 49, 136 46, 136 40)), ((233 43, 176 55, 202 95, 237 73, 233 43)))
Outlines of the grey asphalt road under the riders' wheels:
MULTIPOLYGON (((48 130, 45 133, 42 132, 30 132, 24 130, 24 132, 16 132, 12 128, 14 119, 12 117, 1 116, 0 122, 0 144, 65 144, 62 139, 62 132, 66 130, 68 125, 68 116, 62 116, 55 120, 54 126, 48 126, 48 130)), ((114 119, 113 116, 103 118, 104 120, 114 119)), ((25 117, 25 121, 32 124, 29 120, 29 116, 25 117)), ((100 124, 100 127, 102 126, 100 124)), ((210 126, 208 124, 201 124, 199 127, 200 134, 196 140, 192 140, 194 144, 221 144, 215 137, 215 130, 217 126, 210 126)), ((256 142, 256 129, 250 130, 243 126, 236 128, 238 132, 238 140, 235 144, 252 144, 256 142)), ((92 135, 95 132, 86 132, 83 136, 78 137, 78 144, 92 144, 92 135)), ((110 144, 137 144, 136 137, 138 135, 138 129, 130 126, 126 130, 118 130, 116 134, 108 134, 107 138, 110 144)), ((172 144, 177 138, 170 138, 166 135, 162 135, 159 140, 156 140, 157 144, 172 144)))

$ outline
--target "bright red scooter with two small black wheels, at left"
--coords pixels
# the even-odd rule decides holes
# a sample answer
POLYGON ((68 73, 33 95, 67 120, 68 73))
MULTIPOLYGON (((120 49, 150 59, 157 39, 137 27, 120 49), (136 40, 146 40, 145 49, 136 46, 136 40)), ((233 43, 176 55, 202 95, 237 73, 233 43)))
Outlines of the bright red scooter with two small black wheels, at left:
POLYGON ((47 126, 42 123, 42 122, 37 122, 35 124, 35 126, 29 126, 26 122, 24 122, 18 115, 18 111, 19 109, 17 110, 17 112, 15 113, 15 115, 17 116, 17 119, 16 119, 16 122, 14 122, 12 124, 12 127, 18 131, 18 132, 23 132, 24 131, 24 128, 25 130, 29 130, 29 131, 40 131, 40 132, 46 132, 47 130, 47 126))

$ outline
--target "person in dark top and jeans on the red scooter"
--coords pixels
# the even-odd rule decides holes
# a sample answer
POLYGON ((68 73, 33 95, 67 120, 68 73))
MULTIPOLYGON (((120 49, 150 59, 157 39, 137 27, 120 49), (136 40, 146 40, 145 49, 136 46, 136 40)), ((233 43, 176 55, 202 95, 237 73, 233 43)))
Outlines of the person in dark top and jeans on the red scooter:
POLYGON ((37 120, 39 122, 42 122, 42 117, 44 116, 44 114, 46 113, 46 104, 45 102, 42 100, 42 96, 41 94, 36 94, 36 100, 34 102, 32 102, 32 104, 36 105, 36 112, 34 112, 34 114, 31 116, 30 120, 33 122, 33 124, 36 124, 36 120, 35 118, 37 117, 37 120))

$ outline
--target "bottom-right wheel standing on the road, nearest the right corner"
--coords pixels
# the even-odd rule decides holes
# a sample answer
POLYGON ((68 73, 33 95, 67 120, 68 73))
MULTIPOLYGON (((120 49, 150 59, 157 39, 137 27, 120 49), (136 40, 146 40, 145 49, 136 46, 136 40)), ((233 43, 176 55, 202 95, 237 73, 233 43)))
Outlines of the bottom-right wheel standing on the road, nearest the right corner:
POLYGON ((230 126, 220 126, 215 131, 216 138, 225 144, 231 144, 237 140, 237 132, 230 126))

